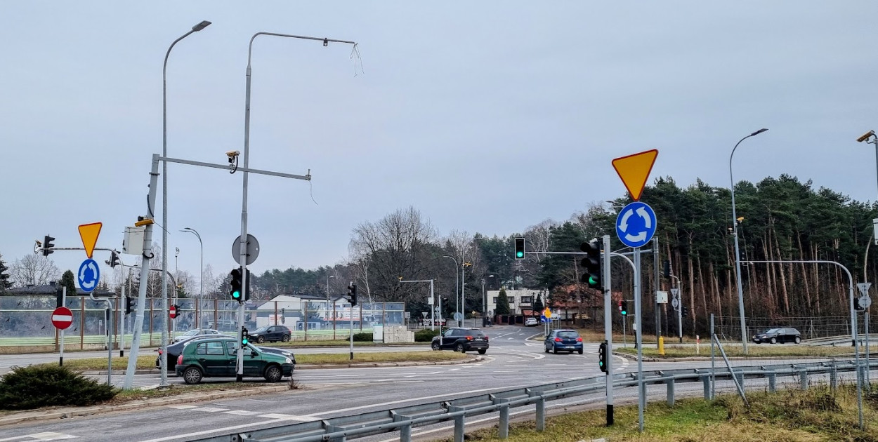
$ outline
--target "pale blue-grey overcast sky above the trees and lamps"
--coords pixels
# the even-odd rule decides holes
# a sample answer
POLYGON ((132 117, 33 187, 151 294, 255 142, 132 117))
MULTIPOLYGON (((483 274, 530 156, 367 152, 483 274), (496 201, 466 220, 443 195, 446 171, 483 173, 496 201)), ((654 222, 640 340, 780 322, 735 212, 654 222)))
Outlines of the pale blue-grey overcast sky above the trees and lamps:
MULTIPOLYGON (((97 246, 121 249, 162 153, 164 55, 201 20, 212 25, 169 56, 172 158, 243 152, 255 32, 352 40, 362 57, 255 39, 249 166, 313 175, 250 175, 257 274, 342 262, 356 225, 408 206, 440 235, 563 221, 623 196, 611 160, 648 149, 651 180, 728 187, 732 147, 763 127, 738 147, 736 180, 788 174, 874 201, 874 146, 856 139, 878 130, 876 13, 793 0, 0 2, 0 254, 20 259, 46 234, 81 246, 77 226, 94 222, 97 246)), ((231 270, 241 172, 169 164, 168 194, 169 268, 198 274, 198 239, 179 232, 191 227, 205 264, 231 270)), ((50 258, 76 271, 85 254, 50 258)))

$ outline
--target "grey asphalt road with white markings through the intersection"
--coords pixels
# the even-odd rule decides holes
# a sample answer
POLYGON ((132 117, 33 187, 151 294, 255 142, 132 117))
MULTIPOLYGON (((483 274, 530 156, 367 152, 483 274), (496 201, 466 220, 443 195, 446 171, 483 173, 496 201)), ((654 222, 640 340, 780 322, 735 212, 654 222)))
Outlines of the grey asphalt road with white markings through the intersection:
MULTIPOLYGON (((543 353, 541 341, 526 341, 529 336, 541 332, 539 329, 495 326, 486 329, 486 332, 491 339, 491 348, 486 359, 478 363, 297 370, 294 377, 300 382, 302 389, 263 396, 228 398, 210 403, 179 403, 60 421, 18 424, 4 427, 0 431, 3 434, 0 442, 62 438, 81 438, 96 442, 184 441, 232 431, 349 416, 601 374, 596 364, 597 344, 587 343, 583 355, 551 354, 543 353)), ((346 348, 335 350, 348 351, 346 348)), ((399 348, 392 347, 389 350, 399 351, 399 348)), ((426 349, 418 347, 411 350, 426 349)), ((327 349, 296 349, 297 353, 306 351, 326 353, 327 349)), ((4 357, 0 357, 0 360, 4 360, 4 357)), ((763 363, 774 364, 779 361, 746 361, 746 365, 763 363)), ((615 373, 637 371, 636 361, 615 356, 613 364, 615 373)), ((644 362, 644 370, 709 365, 709 361, 644 362)), ((156 374, 138 375, 136 378, 139 385, 155 384, 158 379, 156 374)), ((178 382, 173 377, 169 381, 178 382)), ((254 382, 263 384, 261 381, 254 382)), ((717 389, 730 391, 734 386, 730 382, 718 382, 717 389)), ((702 384, 678 384, 676 390, 680 396, 700 396, 702 384)), ((648 391, 651 401, 664 400, 665 395, 666 390, 661 386, 648 391)), ((615 398, 616 404, 633 403, 637 398, 637 389, 617 389, 615 398)), ((550 409, 558 409, 589 403, 602 404, 603 401, 604 394, 601 393, 553 401, 548 405, 550 409)), ((532 412, 531 407, 525 407, 515 410, 513 415, 526 413, 533 418, 532 412)), ((467 425, 469 428, 472 424, 493 424, 495 421, 495 414, 485 415, 468 419, 467 425)), ((450 424, 436 424, 415 429, 413 435, 420 438, 448 437, 450 428, 450 424)), ((399 436, 394 438, 393 433, 388 433, 363 440, 399 440, 399 436)))

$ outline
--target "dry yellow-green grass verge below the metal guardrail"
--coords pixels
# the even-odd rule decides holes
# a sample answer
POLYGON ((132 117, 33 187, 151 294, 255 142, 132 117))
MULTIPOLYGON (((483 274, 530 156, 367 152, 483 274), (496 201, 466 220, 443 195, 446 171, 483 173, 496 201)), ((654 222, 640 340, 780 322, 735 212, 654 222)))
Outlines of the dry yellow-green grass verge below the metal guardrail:
MULTIPOLYGON (((715 401, 684 399, 675 407, 650 403, 644 414, 644 432, 638 431, 637 406, 616 406, 615 424, 606 426, 604 410, 570 413, 546 419, 545 431, 537 432, 533 421, 510 425, 509 438, 497 438, 496 428, 472 431, 468 441, 566 442, 606 438, 613 442, 766 442, 878 440, 878 393, 864 396, 863 422, 857 420, 857 396, 853 385, 836 392, 817 386, 808 390, 747 394, 750 408, 738 396, 715 401)), ((446 439, 450 440, 450 439, 446 439)))

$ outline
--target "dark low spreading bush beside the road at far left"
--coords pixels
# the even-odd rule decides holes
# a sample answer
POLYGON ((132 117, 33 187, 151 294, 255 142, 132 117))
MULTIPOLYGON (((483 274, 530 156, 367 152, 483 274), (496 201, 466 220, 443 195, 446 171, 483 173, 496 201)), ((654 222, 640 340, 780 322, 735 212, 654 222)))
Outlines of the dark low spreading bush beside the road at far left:
POLYGON ((32 410, 59 405, 92 405, 112 399, 119 389, 68 367, 12 367, 0 379, 0 410, 32 410))

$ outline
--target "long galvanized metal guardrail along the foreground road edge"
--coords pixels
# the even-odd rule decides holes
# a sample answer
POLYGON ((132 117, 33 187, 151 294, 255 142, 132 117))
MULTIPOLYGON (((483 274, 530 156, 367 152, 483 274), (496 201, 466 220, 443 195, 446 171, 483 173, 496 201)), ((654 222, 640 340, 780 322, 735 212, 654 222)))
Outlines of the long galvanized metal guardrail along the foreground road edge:
MULTIPOLYGON (((878 361, 871 362, 869 368, 878 367, 878 361)), ((768 389, 775 390, 779 376, 799 376, 802 388, 808 387, 810 374, 829 374, 833 389, 838 385, 838 373, 855 371, 852 360, 833 360, 831 362, 810 362, 804 364, 781 364, 757 367, 686 368, 644 372, 646 385, 666 384, 667 403, 673 405, 674 385, 677 382, 703 382, 704 398, 713 397, 712 385, 717 380, 730 380, 732 375, 743 382, 745 378, 767 379, 768 389)), ((860 375, 866 365, 860 363, 860 375)), ((614 388, 637 386, 640 383, 637 373, 614 374, 614 388)), ((317 442, 345 441, 348 438, 362 438, 375 434, 399 431, 399 440, 409 442, 412 428, 441 422, 454 422, 454 438, 464 440, 464 418, 487 413, 500 412, 500 438, 507 438, 509 429, 509 410, 526 405, 536 405, 536 430, 545 428, 545 403, 565 397, 586 395, 605 389, 604 376, 561 381, 538 385, 525 389, 509 389, 491 394, 462 397, 450 401, 425 403, 391 410, 371 411, 353 416, 331 417, 328 419, 289 424, 274 428, 236 432, 196 439, 196 442, 317 442)))

